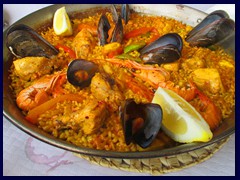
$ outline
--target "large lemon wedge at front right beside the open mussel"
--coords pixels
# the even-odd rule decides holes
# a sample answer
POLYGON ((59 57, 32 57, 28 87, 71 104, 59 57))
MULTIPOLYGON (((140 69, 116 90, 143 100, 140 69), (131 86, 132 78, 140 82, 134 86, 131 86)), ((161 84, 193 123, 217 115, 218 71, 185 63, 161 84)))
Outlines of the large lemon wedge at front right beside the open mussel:
POLYGON ((213 134, 203 117, 175 92, 159 87, 152 103, 162 107, 162 130, 173 140, 191 143, 212 139, 213 134))

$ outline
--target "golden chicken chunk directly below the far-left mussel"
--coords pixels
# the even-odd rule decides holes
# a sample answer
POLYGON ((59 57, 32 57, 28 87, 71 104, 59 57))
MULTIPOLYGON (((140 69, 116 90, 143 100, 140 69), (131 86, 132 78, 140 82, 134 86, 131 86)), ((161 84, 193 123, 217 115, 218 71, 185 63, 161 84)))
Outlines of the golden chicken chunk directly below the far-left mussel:
POLYGON ((40 77, 49 74, 52 70, 52 61, 46 57, 25 57, 13 61, 16 74, 24 79, 29 80, 32 76, 40 77))

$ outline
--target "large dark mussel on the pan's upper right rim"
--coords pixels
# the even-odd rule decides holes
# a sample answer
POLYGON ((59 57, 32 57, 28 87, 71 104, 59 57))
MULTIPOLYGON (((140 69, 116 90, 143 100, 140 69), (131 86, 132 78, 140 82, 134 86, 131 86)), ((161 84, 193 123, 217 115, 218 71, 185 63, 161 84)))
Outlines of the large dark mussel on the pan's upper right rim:
POLYGON ((191 46, 207 47, 231 36, 235 31, 235 22, 225 11, 210 13, 187 35, 186 41, 191 46))

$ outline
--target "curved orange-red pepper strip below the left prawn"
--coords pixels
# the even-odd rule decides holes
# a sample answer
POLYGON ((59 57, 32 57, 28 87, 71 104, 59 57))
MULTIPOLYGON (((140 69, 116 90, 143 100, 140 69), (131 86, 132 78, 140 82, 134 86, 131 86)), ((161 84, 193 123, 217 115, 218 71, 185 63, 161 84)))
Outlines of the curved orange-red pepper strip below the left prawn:
POLYGON ((58 102, 65 100, 82 102, 84 98, 78 94, 65 94, 58 96, 30 110, 26 116, 26 119, 32 124, 36 124, 38 117, 42 113, 56 106, 58 102))

